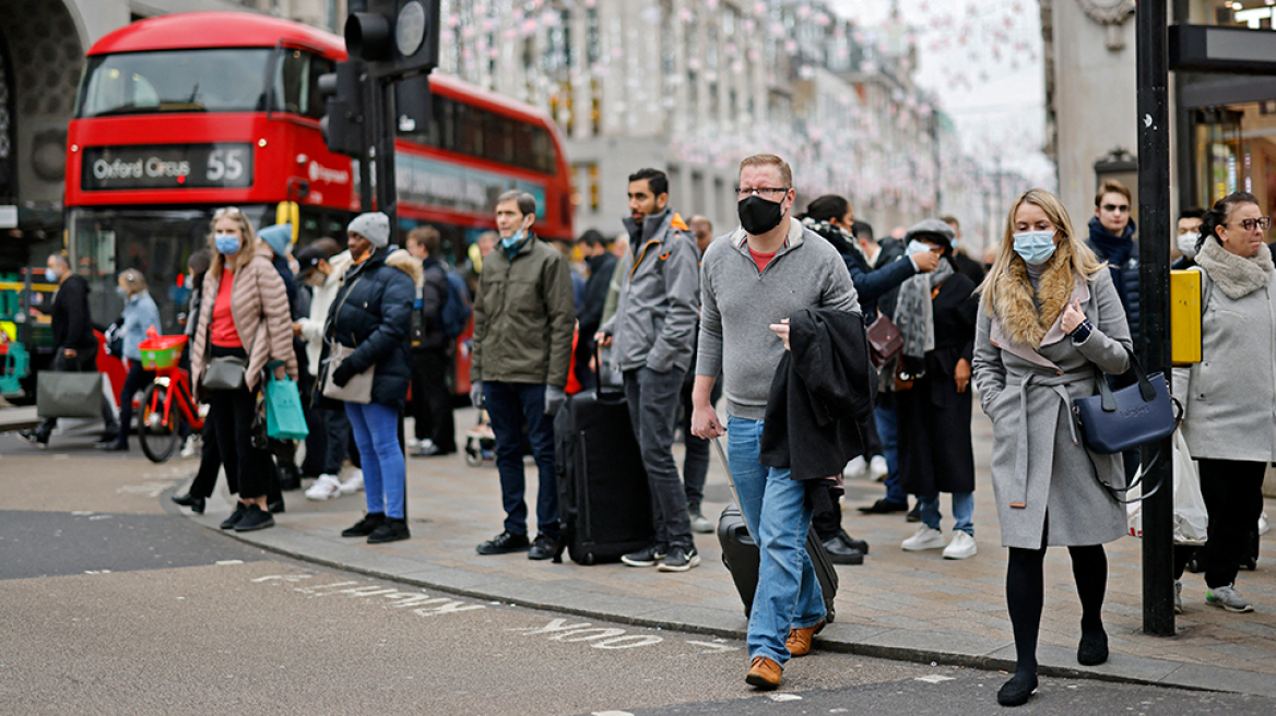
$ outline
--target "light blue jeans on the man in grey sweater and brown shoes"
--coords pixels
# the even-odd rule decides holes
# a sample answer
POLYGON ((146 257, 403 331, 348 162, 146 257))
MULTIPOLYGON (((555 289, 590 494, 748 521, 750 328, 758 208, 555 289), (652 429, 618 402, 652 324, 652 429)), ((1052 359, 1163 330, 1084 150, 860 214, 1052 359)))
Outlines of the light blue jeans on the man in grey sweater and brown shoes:
POLYGON ((814 627, 824 618, 824 596, 806 554, 812 508, 806 485, 787 468, 758 462, 762 420, 727 415, 727 462, 745 524, 758 543, 758 591, 749 615, 749 659, 766 656, 783 665, 791 656, 789 629, 814 627))

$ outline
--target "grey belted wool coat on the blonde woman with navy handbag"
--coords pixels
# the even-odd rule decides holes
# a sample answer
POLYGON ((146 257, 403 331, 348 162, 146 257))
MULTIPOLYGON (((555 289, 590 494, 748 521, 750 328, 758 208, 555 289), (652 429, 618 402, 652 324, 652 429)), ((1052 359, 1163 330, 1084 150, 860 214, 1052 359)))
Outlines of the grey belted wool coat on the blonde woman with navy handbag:
POLYGON ((1122 456, 1087 459, 1072 399, 1099 391, 1097 371, 1128 368, 1129 326, 1106 270, 1088 280, 1076 276, 1072 298, 1094 325, 1081 345, 1064 335, 1062 313, 1032 349, 1012 341, 999 317, 979 312, 974 380, 993 420, 993 492, 1003 547, 1102 544, 1127 530, 1124 507, 1095 479, 1097 470, 1109 484, 1124 484, 1122 456))

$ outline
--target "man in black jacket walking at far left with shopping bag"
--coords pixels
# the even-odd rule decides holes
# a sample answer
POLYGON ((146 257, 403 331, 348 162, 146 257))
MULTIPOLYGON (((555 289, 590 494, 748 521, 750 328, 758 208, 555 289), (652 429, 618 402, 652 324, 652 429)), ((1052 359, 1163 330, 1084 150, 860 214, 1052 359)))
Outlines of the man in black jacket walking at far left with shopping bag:
MULTIPOLYGON (((66 256, 51 254, 45 269, 45 278, 57 284, 50 307, 50 324, 54 331, 52 369, 68 373, 91 373, 97 371, 97 338, 93 336, 93 322, 88 311, 88 282, 84 276, 71 273, 66 256)), ((106 433, 119 432, 111 404, 102 397, 102 420, 106 433)), ((19 433, 23 440, 45 450, 48 436, 57 426, 57 418, 45 418, 33 431, 19 433)), ((103 438, 108 440, 108 438, 103 438)))

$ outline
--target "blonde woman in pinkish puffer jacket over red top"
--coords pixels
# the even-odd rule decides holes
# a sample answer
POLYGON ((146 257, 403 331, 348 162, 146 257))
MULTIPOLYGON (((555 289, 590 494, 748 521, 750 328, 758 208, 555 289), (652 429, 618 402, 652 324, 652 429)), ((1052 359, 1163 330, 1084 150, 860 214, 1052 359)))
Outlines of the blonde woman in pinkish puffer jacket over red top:
POLYGON ((292 350, 292 320, 283 279, 271 262, 274 252, 256 238, 248 218, 235 208, 213 214, 209 237, 213 260, 204 274, 199 324, 190 353, 191 385, 203 386, 208 363, 214 358, 246 362, 244 385, 236 389, 204 390, 209 410, 204 442, 216 445, 226 468, 231 492, 239 505, 222 522, 223 530, 260 530, 274 526, 267 510, 267 490, 274 465, 269 451, 251 441, 255 392, 262 369, 272 361, 276 377, 297 378, 292 350))

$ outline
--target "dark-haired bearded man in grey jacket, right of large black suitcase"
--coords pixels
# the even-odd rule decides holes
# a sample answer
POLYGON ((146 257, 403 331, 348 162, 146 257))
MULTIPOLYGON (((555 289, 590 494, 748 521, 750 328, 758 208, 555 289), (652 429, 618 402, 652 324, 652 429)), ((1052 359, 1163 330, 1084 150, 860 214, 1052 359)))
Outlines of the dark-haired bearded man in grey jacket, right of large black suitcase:
POLYGON ((701 563, 686 512, 686 493, 674 461, 674 427, 683 376, 692 366, 699 312, 699 251, 683 218, 669 206, 669 178, 658 169, 629 176, 633 251, 629 280, 620 288, 616 315, 596 339, 612 344, 611 361, 624 375, 634 436, 651 485, 656 541, 625 554, 630 567, 685 572, 701 563))

